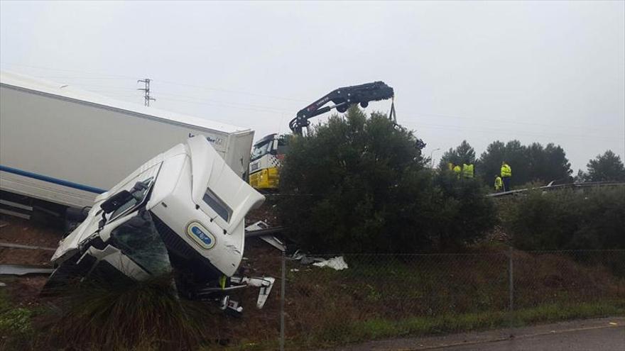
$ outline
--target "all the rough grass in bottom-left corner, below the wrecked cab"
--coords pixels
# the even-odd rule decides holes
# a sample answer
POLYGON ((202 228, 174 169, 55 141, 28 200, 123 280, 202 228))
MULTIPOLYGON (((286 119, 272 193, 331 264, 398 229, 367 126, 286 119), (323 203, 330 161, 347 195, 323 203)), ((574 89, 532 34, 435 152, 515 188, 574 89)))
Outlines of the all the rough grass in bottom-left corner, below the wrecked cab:
POLYGON ((178 298, 169 277, 90 281, 60 292, 38 308, 44 311, 13 306, 0 296, 0 349, 198 350, 219 338, 205 325, 218 323, 222 313, 178 298))

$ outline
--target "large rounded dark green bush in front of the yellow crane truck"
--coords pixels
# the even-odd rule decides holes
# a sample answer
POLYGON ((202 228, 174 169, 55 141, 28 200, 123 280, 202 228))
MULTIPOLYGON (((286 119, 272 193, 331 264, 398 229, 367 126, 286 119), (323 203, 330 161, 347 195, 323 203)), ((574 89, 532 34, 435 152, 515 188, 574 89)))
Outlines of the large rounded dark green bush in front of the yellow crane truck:
POLYGON ((416 252, 479 235, 484 225, 468 218, 484 211, 470 208, 483 197, 479 185, 443 185, 422 147, 413 132, 358 108, 294 138, 278 203, 290 238, 312 252, 416 252))

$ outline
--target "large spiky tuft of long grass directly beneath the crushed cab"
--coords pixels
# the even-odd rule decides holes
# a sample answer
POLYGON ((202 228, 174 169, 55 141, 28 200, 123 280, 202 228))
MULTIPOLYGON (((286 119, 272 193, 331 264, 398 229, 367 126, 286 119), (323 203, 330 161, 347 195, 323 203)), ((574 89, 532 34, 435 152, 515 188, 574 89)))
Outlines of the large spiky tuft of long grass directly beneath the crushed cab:
MULTIPOLYGON (((67 288, 60 314, 45 318, 40 341, 72 350, 197 350, 205 325, 219 317, 204 304, 180 299, 169 277, 146 282, 90 279, 67 288)), ((51 310, 50 313, 53 313, 51 310)))

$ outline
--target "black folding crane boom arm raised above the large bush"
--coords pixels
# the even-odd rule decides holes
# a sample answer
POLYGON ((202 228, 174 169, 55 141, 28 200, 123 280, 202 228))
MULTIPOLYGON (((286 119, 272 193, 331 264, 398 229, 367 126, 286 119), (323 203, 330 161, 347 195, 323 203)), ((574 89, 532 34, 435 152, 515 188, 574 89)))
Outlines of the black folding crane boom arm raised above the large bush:
POLYGON ((393 94, 393 88, 388 87, 384 82, 373 82, 335 89, 309 106, 302 108, 297 116, 288 123, 288 126, 293 133, 301 135, 302 129, 310 126, 308 119, 326 113, 332 110, 332 108, 336 108, 337 111, 342 113, 354 104, 366 107, 369 101, 391 99, 393 94), (330 101, 334 105, 325 106, 330 101))

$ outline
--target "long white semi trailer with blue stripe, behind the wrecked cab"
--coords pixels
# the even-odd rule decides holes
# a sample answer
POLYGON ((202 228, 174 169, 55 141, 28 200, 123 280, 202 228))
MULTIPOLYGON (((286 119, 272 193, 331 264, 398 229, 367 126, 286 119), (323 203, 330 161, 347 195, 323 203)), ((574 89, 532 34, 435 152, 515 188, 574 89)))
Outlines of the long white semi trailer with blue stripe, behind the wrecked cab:
POLYGON ((198 134, 246 178, 254 130, 1 72, 0 212, 91 206, 137 165, 198 134))

